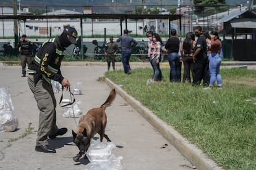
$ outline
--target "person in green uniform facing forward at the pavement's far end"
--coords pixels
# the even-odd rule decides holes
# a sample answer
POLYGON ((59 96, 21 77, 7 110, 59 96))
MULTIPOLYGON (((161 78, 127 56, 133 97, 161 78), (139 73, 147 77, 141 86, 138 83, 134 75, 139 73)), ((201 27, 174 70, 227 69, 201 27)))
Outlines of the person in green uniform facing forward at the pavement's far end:
POLYGON ((111 36, 109 38, 109 42, 106 44, 106 47, 104 48, 104 55, 106 57, 106 62, 108 63, 108 71, 111 62, 113 70, 115 70, 114 62, 116 61, 116 52, 118 51, 118 46, 113 40, 113 36, 111 36))

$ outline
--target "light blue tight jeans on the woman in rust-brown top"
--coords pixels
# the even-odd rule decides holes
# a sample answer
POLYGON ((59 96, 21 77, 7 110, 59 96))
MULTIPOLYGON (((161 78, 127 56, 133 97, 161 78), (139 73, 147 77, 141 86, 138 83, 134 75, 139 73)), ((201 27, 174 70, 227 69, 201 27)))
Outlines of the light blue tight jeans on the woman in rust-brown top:
POLYGON ((221 57, 220 54, 211 53, 209 55, 209 70, 210 70, 210 86, 213 86, 217 81, 218 86, 222 86, 222 79, 220 75, 221 57))

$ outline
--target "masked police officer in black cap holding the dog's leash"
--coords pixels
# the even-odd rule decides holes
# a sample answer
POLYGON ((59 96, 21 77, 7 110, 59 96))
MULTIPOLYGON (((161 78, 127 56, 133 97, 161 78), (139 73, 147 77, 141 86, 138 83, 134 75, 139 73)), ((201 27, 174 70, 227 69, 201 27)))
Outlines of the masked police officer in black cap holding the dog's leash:
POLYGON ((37 152, 55 153, 56 150, 48 144, 48 137, 54 139, 67 132, 67 128, 58 129, 56 125, 56 99, 51 79, 58 81, 67 89, 69 88, 69 81, 62 76, 60 67, 65 49, 70 44, 77 44, 76 38, 75 28, 65 28, 59 37, 43 43, 28 69, 28 86, 40 110, 35 147, 37 152))

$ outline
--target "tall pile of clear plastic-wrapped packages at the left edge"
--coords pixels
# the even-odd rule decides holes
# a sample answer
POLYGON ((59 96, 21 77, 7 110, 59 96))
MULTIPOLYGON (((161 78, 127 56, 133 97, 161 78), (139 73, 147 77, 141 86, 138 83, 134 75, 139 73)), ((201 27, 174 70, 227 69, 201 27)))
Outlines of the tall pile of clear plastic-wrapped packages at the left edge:
POLYGON ((0 132, 12 132, 17 129, 18 118, 12 113, 11 95, 6 88, 0 88, 0 132))

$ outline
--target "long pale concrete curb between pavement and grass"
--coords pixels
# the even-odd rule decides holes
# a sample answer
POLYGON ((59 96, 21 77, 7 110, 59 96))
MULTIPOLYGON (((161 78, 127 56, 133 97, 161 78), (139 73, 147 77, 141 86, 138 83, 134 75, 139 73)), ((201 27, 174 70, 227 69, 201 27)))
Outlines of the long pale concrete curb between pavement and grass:
POLYGON ((159 119, 151 110, 143 106, 134 97, 131 97, 121 87, 114 84, 108 78, 105 79, 106 83, 111 88, 115 88, 119 95, 121 95, 129 104, 135 108, 149 123, 151 123, 158 131, 168 140, 177 150, 184 155, 187 160, 191 161, 197 169, 223 169, 215 161, 210 160, 202 150, 197 148, 196 145, 190 144, 187 139, 181 136, 172 126, 169 126, 164 121, 159 119))

